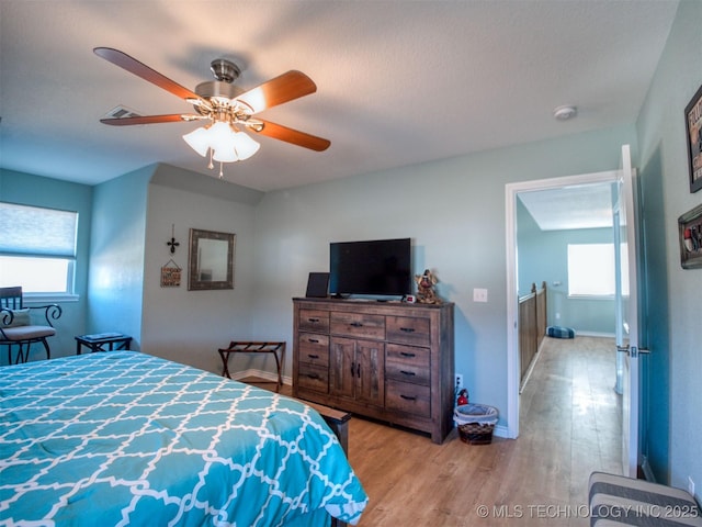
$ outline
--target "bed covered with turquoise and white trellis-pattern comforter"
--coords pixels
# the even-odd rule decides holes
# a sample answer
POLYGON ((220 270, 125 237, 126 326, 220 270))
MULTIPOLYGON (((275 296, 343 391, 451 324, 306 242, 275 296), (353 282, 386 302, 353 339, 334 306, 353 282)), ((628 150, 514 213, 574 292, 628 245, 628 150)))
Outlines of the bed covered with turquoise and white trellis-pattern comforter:
POLYGON ((309 406, 137 351, 0 368, 0 524, 355 525, 309 406))

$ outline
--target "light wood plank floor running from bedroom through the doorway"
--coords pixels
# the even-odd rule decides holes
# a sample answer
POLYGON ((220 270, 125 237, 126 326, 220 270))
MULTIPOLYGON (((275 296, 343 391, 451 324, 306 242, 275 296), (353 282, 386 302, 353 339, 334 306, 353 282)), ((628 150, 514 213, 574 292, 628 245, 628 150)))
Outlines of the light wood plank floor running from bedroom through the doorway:
POLYGON ((466 445, 453 430, 434 445, 352 418, 349 459, 370 497, 359 525, 589 525, 589 473, 621 473, 613 385, 612 339, 546 338, 521 395, 517 440, 466 445))

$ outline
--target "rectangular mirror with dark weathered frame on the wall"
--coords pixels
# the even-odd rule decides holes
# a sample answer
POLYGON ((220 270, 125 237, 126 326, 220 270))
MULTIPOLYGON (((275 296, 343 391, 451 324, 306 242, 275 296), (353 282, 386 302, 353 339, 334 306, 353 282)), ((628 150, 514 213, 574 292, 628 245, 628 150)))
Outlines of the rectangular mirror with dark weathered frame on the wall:
POLYGON ((188 289, 234 289, 236 234, 190 229, 188 289))

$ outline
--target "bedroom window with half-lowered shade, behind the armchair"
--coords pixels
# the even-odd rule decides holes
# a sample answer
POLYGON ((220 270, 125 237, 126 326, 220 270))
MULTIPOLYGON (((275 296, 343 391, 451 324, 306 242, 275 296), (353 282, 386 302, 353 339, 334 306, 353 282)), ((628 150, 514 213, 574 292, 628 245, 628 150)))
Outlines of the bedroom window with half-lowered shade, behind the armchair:
POLYGON ((0 287, 73 293, 78 213, 0 202, 0 287))

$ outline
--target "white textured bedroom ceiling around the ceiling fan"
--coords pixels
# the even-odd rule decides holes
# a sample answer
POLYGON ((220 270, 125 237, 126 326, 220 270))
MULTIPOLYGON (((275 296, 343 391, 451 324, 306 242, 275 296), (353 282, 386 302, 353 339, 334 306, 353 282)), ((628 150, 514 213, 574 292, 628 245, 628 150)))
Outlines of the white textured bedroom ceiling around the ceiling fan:
POLYGON ((318 91, 261 117, 319 135, 268 137, 229 181, 292 188, 633 123, 677 1, 1 0, 0 167, 99 183, 154 162, 217 176, 181 136, 194 123, 114 127, 192 108, 97 57, 122 49, 190 89, 236 59, 248 89, 290 69, 318 91), (561 122, 552 111, 576 104, 561 122))

